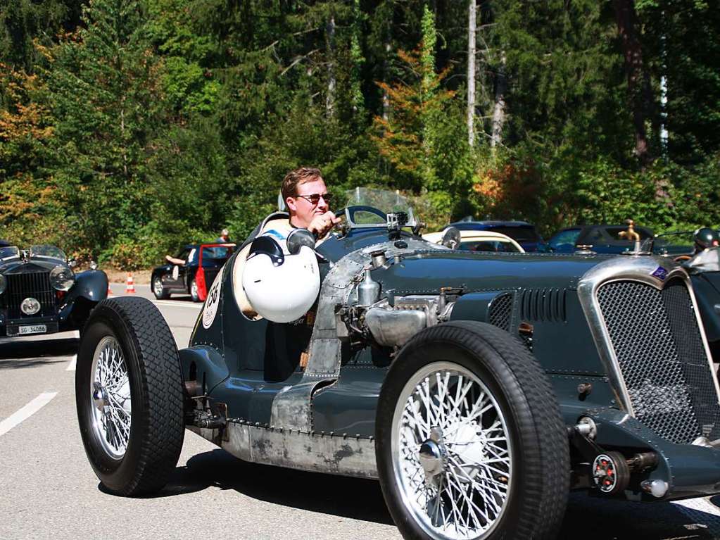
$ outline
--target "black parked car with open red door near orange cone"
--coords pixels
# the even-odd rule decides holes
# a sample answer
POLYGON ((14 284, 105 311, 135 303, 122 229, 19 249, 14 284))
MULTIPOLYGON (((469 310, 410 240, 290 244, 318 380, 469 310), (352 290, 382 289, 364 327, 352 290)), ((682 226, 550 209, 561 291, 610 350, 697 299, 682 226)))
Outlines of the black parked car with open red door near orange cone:
POLYGON ((163 264, 153 269, 150 284, 158 300, 173 293, 189 294, 193 302, 204 302, 207 284, 235 251, 234 243, 189 244, 175 257, 185 264, 163 264))

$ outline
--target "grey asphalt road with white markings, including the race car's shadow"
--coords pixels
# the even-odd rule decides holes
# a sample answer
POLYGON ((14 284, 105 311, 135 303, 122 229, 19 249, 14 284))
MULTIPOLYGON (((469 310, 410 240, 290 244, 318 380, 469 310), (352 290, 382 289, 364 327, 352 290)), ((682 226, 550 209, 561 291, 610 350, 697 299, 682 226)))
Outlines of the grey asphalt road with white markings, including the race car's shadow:
MULTIPOLYGON (((199 305, 175 298, 155 303, 183 347, 199 305)), ((0 340, 0 540, 400 538, 377 482, 246 464, 187 431, 166 489, 109 495, 78 431, 76 348, 73 333, 0 340)), ((561 537, 720 539, 719 507, 720 496, 640 504, 573 494, 561 537)))

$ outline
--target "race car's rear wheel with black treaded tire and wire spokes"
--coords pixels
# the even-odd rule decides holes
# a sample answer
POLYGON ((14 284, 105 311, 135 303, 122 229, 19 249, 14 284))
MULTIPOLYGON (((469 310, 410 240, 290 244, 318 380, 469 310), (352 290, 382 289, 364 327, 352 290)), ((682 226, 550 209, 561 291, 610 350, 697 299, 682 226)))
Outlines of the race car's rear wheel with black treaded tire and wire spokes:
POLYGON ((92 311, 78 350, 75 395, 86 454, 109 492, 135 496, 166 485, 183 444, 183 382, 175 340, 150 300, 103 300, 92 311), (94 357, 101 343, 119 348, 127 370, 125 388, 129 387, 132 414, 120 455, 107 449, 110 436, 102 437, 98 427, 102 422, 96 419, 100 413, 95 410, 101 410, 98 390, 91 390, 94 357))

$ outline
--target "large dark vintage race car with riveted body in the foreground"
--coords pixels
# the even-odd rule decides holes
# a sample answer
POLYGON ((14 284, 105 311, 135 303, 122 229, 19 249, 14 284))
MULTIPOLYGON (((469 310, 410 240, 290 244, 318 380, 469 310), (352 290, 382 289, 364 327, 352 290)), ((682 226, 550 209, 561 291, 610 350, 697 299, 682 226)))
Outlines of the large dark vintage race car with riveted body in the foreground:
POLYGON ((179 352, 148 301, 94 310, 76 399, 107 490, 160 490, 187 428, 248 462, 377 478, 413 539, 552 538, 570 490, 720 492, 718 382, 682 266, 451 250, 397 198, 341 213, 315 246, 258 228, 179 352), (296 305, 312 272, 319 295, 296 305), (307 312, 278 322, 290 305, 307 312))

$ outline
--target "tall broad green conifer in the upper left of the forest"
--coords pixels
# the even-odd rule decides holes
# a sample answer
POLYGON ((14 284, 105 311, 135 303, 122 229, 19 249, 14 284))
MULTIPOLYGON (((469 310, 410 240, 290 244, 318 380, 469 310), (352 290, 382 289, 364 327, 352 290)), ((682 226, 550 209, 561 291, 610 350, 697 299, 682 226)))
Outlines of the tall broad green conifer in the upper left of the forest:
POLYGON ((150 219, 145 158, 162 99, 143 18, 138 1, 94 0, 55 51, 55 175, 78 242, 95 249, 150 219))

